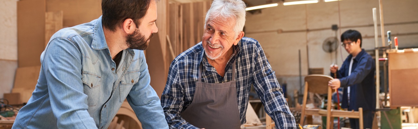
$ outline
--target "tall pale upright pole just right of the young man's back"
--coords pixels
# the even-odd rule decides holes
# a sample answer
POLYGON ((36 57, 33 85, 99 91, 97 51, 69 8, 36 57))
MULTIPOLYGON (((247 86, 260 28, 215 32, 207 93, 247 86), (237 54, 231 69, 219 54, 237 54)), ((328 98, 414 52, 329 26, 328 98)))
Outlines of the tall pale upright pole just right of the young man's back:
POLYGON ((379 33, 377 30, 376 8, 373 8, 373 23, 375 24, 375 63, 376 63, 376 109, 379 109, 379 91, 380 91, 380 63, 379 63, 379 33))

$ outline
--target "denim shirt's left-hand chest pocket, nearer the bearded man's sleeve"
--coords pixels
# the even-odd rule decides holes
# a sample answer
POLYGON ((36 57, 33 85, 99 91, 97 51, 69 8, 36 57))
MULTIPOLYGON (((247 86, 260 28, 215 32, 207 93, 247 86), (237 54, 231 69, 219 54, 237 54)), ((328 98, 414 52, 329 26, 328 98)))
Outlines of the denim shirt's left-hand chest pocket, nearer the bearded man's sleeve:
POLYGON ((100 84, 102 78, 87 71, 83 71, 82 81, 84 94, 87 95, 87 105, 96 106, 100 96, 100 84))

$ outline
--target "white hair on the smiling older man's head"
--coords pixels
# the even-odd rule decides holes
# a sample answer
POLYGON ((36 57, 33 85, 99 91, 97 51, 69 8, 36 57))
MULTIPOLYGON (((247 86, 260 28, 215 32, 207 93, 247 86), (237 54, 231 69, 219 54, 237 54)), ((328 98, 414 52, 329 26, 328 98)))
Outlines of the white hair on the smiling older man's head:
POLYGON ((214 0, 206 13, 205 26, 209 18, 221 18, 223 21, 233 18, 235 19, 234 32, 236 37, 245 25, 245 7, 246 5, 242 0, 214 0))

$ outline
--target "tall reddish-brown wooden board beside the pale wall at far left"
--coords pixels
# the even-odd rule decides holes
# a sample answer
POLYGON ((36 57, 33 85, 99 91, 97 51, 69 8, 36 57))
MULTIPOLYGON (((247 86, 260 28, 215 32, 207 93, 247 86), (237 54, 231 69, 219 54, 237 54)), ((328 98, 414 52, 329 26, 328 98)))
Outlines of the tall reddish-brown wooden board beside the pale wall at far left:
POLYGON ((45 49, 45 0, 18 1, 18 66, 39 66, 45 49))

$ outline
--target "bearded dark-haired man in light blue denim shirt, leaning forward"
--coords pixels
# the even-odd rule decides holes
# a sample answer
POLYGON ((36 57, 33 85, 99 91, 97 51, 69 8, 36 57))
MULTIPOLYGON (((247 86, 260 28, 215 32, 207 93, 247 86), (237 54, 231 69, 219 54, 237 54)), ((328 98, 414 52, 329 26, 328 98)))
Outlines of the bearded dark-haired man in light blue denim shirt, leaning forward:
POLYGON ((102 0, 102 14, 51 37, 13 129, 106 129, 125 98, 143 128, 168 128, 143 52, 158 31, 156 1, 102 0))

